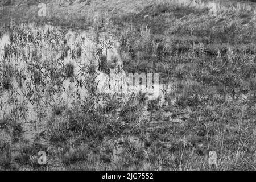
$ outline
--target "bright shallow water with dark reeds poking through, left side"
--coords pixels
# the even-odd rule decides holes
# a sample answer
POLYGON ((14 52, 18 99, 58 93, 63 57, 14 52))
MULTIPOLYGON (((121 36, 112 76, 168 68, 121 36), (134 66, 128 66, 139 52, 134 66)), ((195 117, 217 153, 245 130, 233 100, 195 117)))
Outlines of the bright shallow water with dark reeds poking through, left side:
MULTIPOLYGON (((102 80, 104 71, 98 69, 102 60, 122 67, 119 43, 104 33, 98 39, 92 37, 85 31, 34 24, 22 24, 15 32, 3 34, 0 119, 18 119, 24 138, 32 141, 46 129, 54 105, 72 107, 77 100, 86 101, 88 84, 102 80)), ((163 85, 159 89, 160 95, 164 95, 161 90, 168 92, 163 85)))

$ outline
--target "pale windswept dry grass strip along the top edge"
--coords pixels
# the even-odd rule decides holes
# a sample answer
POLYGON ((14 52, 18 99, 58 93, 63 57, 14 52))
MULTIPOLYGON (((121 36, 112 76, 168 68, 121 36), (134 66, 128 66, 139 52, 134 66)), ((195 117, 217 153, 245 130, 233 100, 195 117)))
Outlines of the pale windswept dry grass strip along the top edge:
MULTIPOLYGON (((7 2, 7 1, 6 1, 7 2)), ((9 2, 9 1, 8 1, 9 2)), ((11 2, 11 1, 10 1, 11 2)), ((47 17, 38 17, 39 1, 13 1, 13 3, 4 3, 7 7, 3 12, 2 19, 6 16, 14 21, 36 20, 37 22, 53 22, 80 28, 88 26, 93 20, 108 20, 113 15, 129 16, 141 13, 146 7, 155 7, 163 5, 168 9, 176 7, 193 7, 194 9, 205 9, 209 1, 195 3, 192 0, 95 0, 95 1, 40 1, 47 5, 47 17)), ((197 1, 198 2, 198 1, 197 1)), ((213 2, 213 1, 210 1, 213 2)), ((216 2, 216 1, 214 1, 216 2)), ((248 3, 236 3, 236 1, 225 1, 221 3, 220 16, 230 13, 242 13, 243 11, 254 11, 253 5, 248 3)), ((255 16, 255 11, 254 11, 255 16)))

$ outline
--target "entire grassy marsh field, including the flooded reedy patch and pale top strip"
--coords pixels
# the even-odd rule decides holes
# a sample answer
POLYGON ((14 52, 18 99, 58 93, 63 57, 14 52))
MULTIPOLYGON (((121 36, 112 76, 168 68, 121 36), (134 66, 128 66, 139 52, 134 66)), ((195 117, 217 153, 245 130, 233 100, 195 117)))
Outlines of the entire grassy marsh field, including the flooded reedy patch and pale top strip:
POLYGON ((0 169, 255 170, 256 3, 208 3, 1 1, 0 169), (111 69, 159 98, 97 92, 111 69))

